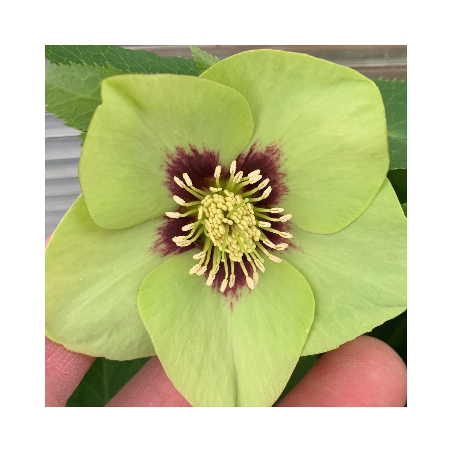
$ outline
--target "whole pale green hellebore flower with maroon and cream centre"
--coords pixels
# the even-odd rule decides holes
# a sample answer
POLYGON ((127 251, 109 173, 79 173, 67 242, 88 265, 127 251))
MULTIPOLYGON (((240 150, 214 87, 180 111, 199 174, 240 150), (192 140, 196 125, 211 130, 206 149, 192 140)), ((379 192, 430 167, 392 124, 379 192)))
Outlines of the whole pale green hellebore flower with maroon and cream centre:
POLYGON ((46 251, 46 334, 157 354, 193 405, 272 405, 300 355, 405 310, 388 166, 377 87, 328 61, 257 50, 106 79, 46 251))

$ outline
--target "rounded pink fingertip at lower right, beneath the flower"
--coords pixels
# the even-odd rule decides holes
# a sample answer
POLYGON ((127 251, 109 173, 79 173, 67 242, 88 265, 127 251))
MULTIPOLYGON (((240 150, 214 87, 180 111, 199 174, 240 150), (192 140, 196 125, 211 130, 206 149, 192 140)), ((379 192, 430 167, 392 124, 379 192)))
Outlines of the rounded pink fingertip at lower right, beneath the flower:
POLYGON ((359 336, 324 353, 278 406, 403 406, 406 366, 379 339, 359 336))

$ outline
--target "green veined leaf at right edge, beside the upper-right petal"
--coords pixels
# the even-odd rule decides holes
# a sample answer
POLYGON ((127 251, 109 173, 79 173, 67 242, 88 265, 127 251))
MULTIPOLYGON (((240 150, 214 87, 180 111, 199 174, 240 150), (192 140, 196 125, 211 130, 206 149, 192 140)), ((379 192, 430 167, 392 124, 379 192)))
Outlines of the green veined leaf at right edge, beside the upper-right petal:
POLYGON ((375 80, 383 98, 388 127, 390 170, 406 170, 406 81, 375 80))

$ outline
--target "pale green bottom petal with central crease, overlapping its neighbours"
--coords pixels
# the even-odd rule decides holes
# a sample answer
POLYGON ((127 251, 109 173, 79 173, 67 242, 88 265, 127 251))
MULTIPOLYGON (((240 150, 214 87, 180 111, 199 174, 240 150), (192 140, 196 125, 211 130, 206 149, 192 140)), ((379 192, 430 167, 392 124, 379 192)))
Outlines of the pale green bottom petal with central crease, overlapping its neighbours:
POLYGON ((192 253, 169 259, 138 293, 165 372, 195 406, 272 405, 311 326, 311 288, 292 265, 266 261, 254 290, 234 299, 189 275, 193 262, 192 253))

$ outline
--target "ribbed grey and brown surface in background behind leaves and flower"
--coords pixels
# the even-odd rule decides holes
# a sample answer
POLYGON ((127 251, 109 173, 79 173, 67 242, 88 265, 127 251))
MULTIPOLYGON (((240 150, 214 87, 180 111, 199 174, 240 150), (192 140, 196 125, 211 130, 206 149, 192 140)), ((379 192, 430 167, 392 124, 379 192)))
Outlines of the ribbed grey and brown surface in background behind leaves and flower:
MULTIPOLYGON (((161 56, 191 57, 188 46, 122 46, 161 56)), ((406 80, 406 46, 198 46, 223 59, 256 48, 273 48, 309 55, 352 67, 369 78, 406 80)), ((81 193, 77 166, 79 131, 46 112, 46 237, 81 193)))

